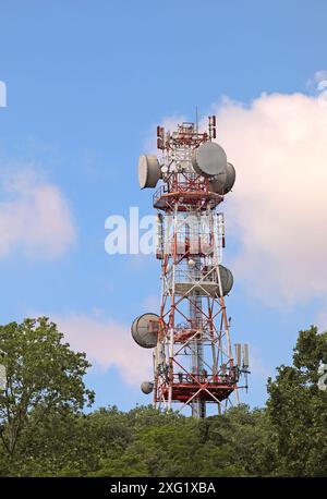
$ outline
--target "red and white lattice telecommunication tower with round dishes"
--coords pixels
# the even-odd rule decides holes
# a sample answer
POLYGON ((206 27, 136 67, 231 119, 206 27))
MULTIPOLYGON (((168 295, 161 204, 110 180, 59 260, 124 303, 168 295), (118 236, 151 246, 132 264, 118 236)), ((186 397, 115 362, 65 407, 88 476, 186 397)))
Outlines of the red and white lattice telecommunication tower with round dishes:
POLYGON ((218 413, 231 393, 247 388, 249 346, 230 338, 225 296, 233 276, 221 265, 223 214, 217 207, 235 181, 235 170, 216 138, 216 117, 199 132, 184 122, 170 133, 157 127, 157 156, 141 156, 141 188, 156 187, 156 256, 161 261, 161 304, 158 314, 143 314, 132 324, 140 346, 153 349, 154 378, 141 389, 154 405, 190 406, 205 417, 207 404, 218 413), (240 378, 244 376, 244 386, 240 378))

